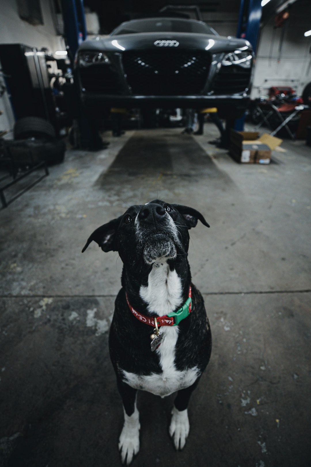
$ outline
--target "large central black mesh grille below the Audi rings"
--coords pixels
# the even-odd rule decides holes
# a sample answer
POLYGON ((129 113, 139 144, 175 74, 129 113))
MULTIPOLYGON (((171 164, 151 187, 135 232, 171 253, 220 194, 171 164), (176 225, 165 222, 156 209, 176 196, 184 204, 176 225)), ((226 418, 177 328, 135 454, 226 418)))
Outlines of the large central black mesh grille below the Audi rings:
POLYGON ((124 73, 134 94, 186 96, 200 94, 210 56, 197 50, 130 50, 123 54, 124 73))

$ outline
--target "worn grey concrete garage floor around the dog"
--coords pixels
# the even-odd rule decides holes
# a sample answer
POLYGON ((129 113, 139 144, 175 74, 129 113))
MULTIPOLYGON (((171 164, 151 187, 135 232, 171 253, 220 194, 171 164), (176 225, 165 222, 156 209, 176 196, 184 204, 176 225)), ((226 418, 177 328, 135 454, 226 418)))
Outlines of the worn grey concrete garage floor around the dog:
POLYGON ((310 467, 311 149, 287 141, 269 166, 239 165, 208 145, 214 132, 141 130, 69 150, 0 212, 1 466, 119 465, 107 337, 122 263, 81 249, 127 203, 159 197, 211 225, 191 230, 189 261, 214 347, 183 452, 168 436, 173 396, 139 394, 133 467, 310 467))

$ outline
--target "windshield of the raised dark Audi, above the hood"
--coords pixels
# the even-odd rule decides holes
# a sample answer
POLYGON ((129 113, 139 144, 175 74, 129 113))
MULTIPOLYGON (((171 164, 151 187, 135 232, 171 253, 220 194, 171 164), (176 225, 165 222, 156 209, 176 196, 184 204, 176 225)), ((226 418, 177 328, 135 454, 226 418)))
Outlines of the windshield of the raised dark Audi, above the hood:
POLYGON ((137 34, 140 32, 192 32, 196 34, 217 35, 213 28, 202 21, 182 20, 176 18, 148 18, 127 21, 120 24, 111 35, 137 34))

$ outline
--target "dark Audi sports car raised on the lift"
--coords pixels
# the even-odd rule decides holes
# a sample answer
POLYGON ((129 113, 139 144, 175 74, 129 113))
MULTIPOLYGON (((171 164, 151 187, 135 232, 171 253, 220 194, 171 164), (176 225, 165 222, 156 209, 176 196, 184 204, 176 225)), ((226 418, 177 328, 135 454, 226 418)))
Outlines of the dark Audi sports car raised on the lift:
POLYGON ((218 107, 224 118, 245 110, 254 54, 243 39, 218 35, 202 21, 148 18, 122 23, 104 39, 81 44, 81 98, 92 115, 109 107, 218 107))

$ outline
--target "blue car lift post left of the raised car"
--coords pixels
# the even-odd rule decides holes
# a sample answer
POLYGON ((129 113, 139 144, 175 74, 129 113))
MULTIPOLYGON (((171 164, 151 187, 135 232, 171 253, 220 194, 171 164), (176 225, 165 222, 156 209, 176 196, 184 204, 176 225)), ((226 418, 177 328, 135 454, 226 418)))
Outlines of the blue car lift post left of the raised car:
MULTIPOLYGON (((73 67, 76 51, 78 50, 80 43, 86 39, 83 0, 61 0, 61 3, 66 45, 69 47, 69 58, 73 67)), ((83 112, 82 102, 79 96, 78 80, 76 79, 76 76, 74 76, 74 86, 76 90, 78 113, 78 145, 80 149, 101 149, 102 140, 98 133, 97 122, 89 120, 83 112)))

